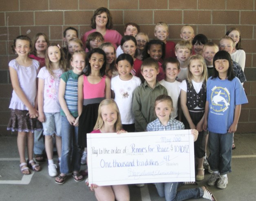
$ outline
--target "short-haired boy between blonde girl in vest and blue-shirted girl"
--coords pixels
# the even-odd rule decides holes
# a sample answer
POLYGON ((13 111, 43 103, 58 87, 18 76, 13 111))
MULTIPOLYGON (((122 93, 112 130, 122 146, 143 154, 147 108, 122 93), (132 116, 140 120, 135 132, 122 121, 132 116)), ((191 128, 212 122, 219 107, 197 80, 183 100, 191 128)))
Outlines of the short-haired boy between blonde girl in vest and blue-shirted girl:
POLYGON ((213 75, 213 57, 218 52, 218 45, 214 42, 206 43, 203 46, 203 58, 205 59, 208 78, 213 75))

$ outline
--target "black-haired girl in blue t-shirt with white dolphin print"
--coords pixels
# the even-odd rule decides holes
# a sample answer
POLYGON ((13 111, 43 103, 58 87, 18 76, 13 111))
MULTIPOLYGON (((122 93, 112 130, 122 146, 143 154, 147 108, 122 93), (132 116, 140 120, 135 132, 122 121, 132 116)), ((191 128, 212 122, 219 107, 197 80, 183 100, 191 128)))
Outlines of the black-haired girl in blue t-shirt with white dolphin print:
POLYGON ((203 129, 209 130, 208 162, 213 174, 209 186, 226 188, 231 172, 232 139, 236 132, 241 104, 248 103, 243 86, 234 76, 231 56, 219 51, 213 58, 214 74, 207 81, 203 129))

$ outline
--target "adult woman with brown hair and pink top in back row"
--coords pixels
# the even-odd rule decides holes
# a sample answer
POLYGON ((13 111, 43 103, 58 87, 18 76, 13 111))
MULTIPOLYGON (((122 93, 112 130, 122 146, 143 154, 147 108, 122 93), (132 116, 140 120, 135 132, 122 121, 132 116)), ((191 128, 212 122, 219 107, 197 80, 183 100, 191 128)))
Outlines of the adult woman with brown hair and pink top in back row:
POLYGON ((86 32, 82 38, 84 44, 88 35, 92 32, 97 31, 102 34, 105 42, 112 43, 115 46, 115 49, 117 49, 117 47, 120 45, 122 36, 116 30, 111 30, 111 28, 113 27, 112 16, 107 8, 101 7, 94 12, 91 18, 90 27, 93 29, 86 32))

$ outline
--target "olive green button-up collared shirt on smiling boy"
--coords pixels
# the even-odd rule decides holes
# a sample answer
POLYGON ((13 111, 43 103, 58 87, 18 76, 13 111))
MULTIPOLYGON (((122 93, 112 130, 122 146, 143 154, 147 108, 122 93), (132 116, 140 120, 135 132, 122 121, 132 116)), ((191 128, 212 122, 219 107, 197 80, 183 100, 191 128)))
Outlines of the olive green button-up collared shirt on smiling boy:
POLYGON ((146 131, 148 123, 157 118, 154 112, 154 102, 159 95, 163 94, 168 95, 167 90, 158 81, 154 89, 146 81, 135 89, 132 99, 135 131, 146 131))

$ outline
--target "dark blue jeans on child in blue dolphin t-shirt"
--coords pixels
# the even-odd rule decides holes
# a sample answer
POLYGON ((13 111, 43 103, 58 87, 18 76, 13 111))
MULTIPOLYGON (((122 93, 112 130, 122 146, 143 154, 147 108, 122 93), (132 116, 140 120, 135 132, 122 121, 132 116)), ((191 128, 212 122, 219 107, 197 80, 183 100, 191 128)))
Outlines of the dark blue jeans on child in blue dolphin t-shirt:
POLYGON ((209 132, 208 162, 212 171, 220 171, 221 175, 231 172, 232 141, 234 133, 218 134, 209 132))

